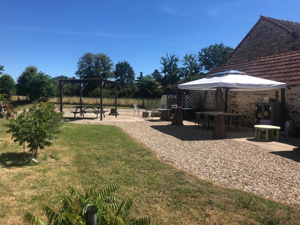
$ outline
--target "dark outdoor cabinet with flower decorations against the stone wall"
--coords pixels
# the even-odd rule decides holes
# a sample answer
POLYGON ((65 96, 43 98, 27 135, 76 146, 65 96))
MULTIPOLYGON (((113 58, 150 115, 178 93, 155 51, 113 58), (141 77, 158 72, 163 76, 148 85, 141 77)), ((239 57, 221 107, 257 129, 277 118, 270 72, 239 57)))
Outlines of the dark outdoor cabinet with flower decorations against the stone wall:
POLYGON ((254 124, 259 120, 271 120, 271 125, 281 126, 281 104, 280 102, 254 102, 254 124))

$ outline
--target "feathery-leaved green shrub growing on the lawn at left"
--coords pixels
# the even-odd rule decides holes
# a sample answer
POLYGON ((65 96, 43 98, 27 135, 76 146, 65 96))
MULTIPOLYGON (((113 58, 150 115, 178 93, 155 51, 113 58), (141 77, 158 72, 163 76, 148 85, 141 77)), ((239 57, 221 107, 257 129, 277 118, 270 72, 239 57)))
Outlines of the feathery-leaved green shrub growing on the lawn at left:
POLYGON ((63 113, 55 112, 54 107, 41 102, 39 108, 25 109, 22 113, 15 112, 12 117, 6 117, 9 123, 4 124, 9 128, 6 134, 12 134, 11 139, 23 145, 25 154, 25 143, 28 144, 29 152, 37 156, 38 149, 45 149, 50 146, 51 141, 56 140, 55 134, 62 133, 59 129, 66 119, 62 118, 63 113))

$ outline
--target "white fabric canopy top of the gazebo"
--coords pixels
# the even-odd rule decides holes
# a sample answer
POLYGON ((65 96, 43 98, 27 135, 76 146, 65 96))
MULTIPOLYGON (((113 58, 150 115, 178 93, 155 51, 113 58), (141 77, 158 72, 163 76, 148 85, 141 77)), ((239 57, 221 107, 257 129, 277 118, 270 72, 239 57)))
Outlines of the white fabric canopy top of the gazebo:
POLYGON ((285 88, 286 84, 272 80, 248 76, 244 72, 226 70, 208 74, 205 78, 178 85, 186 90, 215 90, 218 87, 229 91, 264 91, 285 88))

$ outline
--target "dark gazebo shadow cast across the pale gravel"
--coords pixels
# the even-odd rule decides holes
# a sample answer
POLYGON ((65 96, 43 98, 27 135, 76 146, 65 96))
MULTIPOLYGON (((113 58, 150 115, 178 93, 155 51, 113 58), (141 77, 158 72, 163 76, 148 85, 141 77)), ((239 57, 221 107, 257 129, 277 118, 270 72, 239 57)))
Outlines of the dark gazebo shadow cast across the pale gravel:
POLYGON ((193 125, 153 125, 150 127, 164 134, 176 137, 182 141, 216 140, 212 137, 211 132, 203 131, 197 127, 194 128, 193 125))

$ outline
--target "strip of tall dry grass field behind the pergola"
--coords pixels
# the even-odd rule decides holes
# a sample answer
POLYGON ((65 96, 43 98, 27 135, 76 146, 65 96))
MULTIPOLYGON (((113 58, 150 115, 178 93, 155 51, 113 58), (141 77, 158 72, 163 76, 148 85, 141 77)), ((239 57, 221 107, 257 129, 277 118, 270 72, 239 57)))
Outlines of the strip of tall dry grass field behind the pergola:
MULTIPOLYGON (((26 101, 26 96, 13 96, 11 101, 26 101), (19 99, 18 99, 19 97, 19 99)), ((58 104, 59 98, 48 98, 48 102, 55 102, 58 104)), ((145 101, 145 104, 147 101, 145 101)), ((68 105, 79 105, 79 97, 78 96, 63 96, 62 104, 68 105)), ((133 104, 138 104, 141 108, 143 106, 143 99, 141 98, 118 98, 118 106, 122 107, 133 107, 133 104)), ((82 97, 82 105, 100 105, 100 98, 88 98, 82 97)), ((114 98, 103 98, 104 106, 114 106, 115 99, 114 98)), ((160 100, 158 101, 148 101, 148 107, 160 107, 160 100), (152 104, 152 105, 151 105, 152 104)))

